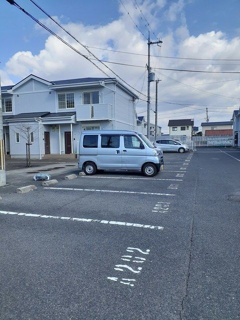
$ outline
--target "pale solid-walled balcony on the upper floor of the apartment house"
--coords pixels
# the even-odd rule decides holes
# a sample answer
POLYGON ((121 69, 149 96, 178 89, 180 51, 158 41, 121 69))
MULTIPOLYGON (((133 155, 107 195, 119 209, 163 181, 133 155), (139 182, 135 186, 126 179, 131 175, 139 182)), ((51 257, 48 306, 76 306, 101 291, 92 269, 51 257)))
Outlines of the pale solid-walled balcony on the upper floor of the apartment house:
POLYGON ((76 121, 111 120, 112 105, 109 103, 76 105, 76 121))

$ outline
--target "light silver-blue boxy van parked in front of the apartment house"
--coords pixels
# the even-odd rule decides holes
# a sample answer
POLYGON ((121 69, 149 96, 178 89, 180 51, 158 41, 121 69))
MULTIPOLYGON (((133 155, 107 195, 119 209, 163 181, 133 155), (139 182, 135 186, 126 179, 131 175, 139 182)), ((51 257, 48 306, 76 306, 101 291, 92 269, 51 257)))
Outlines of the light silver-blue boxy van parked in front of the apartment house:
POLYGON ((141 171, 153 176, 163 169, 163 155, 161 149, 137 131, 82 131, 78 168, 87 175, 108 169, 141 171))

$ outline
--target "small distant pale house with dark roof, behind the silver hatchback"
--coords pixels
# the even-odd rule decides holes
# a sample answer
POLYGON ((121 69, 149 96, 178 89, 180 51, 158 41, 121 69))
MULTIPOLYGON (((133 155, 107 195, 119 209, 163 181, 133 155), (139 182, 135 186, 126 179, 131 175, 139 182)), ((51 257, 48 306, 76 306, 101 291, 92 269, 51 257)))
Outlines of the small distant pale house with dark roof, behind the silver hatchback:
POLYGON ((169 120, 169 135, 191 135, 193 125, 193 119, 169 120))

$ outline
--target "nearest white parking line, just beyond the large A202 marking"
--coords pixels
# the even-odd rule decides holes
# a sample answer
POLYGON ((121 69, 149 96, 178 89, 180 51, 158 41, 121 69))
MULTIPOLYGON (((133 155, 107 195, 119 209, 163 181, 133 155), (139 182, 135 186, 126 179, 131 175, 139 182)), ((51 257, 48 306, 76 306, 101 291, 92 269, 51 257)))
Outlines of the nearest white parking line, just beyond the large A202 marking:
POLYGON ((31 216, 31 217, 40 217, 40 218, 52 218, 52 219, 60 219, 60 220, 71 220, 71 221, 79 221, 79 222, 98 222, 104 224, 115 224, 121 226, 133 226, 140 228, 148 228, 148 229, 157 229, 162 230, 163 226, 159 225, 148 225, 148 224, 139 224, 139 223, 131 223, 131 222, 121 222, 121 221, 108 221, 108 220, 98 220, 98 219, 86 219, 86 218, 73 218, 68 216, 55 216, 55 215, 42 215, 42 214, 32 214, 32 213, 22 213, 22 212, 12 212, 12 211, 0 211, 1 214, 13 214, 19 216, 31 216))

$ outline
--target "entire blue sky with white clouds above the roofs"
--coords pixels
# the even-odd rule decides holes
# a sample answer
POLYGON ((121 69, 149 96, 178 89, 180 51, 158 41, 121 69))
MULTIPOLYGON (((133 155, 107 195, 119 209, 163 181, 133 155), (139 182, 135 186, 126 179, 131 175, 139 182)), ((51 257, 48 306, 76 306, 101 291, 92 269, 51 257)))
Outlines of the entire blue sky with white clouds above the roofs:
MULTIPOLYGON (((145 22, 140 18, 141 15, 136 8, 135 0, 122 1, 144 35, 147 35, 145 22)), ((29 0, 17 0, 16 2, 36 18, 44 19, 44 23, 64 36, 52 23, 49 24, 49 19, 46 19, 46 16, 29 0)), ((141 54, 145 54, 147 51, 145 38, 134 26, 118 0, 37 0, 37 3, 49 14, 56 16, 68 30, 86 45, 101 48, 110 47, 141 54)), ((163 40, 161 51, 159 47, 151 47, 153 54, 198 58, 240 58, 239 0, 137 0, 137 3, 151 28, 163 40)), ((70 52, 57 39, 49 36, 45 30, 36 27, 34 21, 5 0, 0 2, 0 12, 2 85, 15 83, 29 73, 34 73, 47 80, 100 75, 97 69, 89 65, 89 62, 74 52, 70 52)), ((152 33, 151 38, 154 39, 152 33)), ((71 44, 76 45, 74 42, 71 44)), ((146 63, 144 56, 92 50, 100 58, 109 61, 142 66, 145 66, 146 63)), ((152 66, 155 67, 158 65, 158 67, 165 68, 240 70, 240 61, 223 61, 222 65, 219 64, 214 60, 193 61, 164 58, 154 60, 152 58, 152 66)), ((143 81, 145 79, 144 68, 115 64, 109 64, 109 66, 129 84, 146 93, 146 81, 143 81)), ((240 82, 233 80, 240 78, 238 74, 189 74, 175 71, 162 71, 161 74, 158 70, 155 72, 162 80, 159 84, 158 98, 171 102, 190 102, 193 107, 197 104, 221 105, 218 111, 222 110, 222 113, 209 112, 211 121, 228 120, 231 110, 238 108, 240 82), (194 88, 201 91, 193 90, 174 81, 193 85, 194 88), (209 82, 214 83, 204 84, 209 82), (202 91, 211 92, 211 94, 202 91), (221 94, 225 97, 219 97, 215 94, 221 94), (228 108, 228 105, 231 107, 228 108)), ((151 95, 154 96, 153 85, 151 95)), ((152 107, 154 107, 154 100, 152 100, 152 107)), ((163 126, 166 126, 167 117, 194 116, 198 121, 197 125, 204 121, 203 111, 197 113, 197 110, 190 110, 189 107, 170 104, 162 104, 160 107, 163 126)), ((141 115, 144 115, 145 103, 139 101, 137 110, 141 112, 141 115)))

